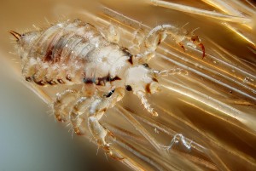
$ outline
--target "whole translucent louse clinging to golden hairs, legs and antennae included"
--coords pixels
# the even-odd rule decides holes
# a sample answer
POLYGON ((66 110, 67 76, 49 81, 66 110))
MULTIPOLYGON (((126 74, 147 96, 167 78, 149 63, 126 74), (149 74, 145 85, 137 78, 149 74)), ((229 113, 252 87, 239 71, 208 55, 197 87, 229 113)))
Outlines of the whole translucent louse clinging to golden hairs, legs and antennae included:
POLYGON ((56 94, 52 102, 55 117, 71 123, 76 134, 84 134, 84 122, 87 121, 96 143, 114 158, 118 155, 107 141, 113 134, 99 123, 105 111, 124 97, 126 89, 136 94, 144 108, 157 117, 146 94, 159 90, 161 76, 182 71, 179 68, 157 71, 148 67, 147 62, 158 45, 171 35, 182 48, 194 43, 205 55, 200 39, 193 32, 180 31, 171 25, 156 26, 149 31, 143 43, 137 45, 144 46, 139 54, 131 54, 128 48, 109 41, 110 37, 81 20, 68 20, 46 30, 22 35, 9 32, 17 40, 16 48, 26 81, 40 86, 82 85, 79 91, 68 88, 56 94), (62 110, 64 105, 69 107, 68 113, 62 110))

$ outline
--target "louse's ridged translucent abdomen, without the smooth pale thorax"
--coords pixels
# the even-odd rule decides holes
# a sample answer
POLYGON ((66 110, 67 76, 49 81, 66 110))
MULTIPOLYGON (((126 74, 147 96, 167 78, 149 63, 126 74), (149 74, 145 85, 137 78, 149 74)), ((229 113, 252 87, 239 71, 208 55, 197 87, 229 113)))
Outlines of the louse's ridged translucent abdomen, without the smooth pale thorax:
MULTIPOLYGON (((27 51, 23 66, 26 81, 41 86, 82 82, 86 55, 95 48, 90 37, 100 37, 95 27, 75 20, 51 26, 38 34, 36 39, 30 37, 33 42, 23 43, 27 51)), ((26 40, 26 34, 23 38, 26 40)))

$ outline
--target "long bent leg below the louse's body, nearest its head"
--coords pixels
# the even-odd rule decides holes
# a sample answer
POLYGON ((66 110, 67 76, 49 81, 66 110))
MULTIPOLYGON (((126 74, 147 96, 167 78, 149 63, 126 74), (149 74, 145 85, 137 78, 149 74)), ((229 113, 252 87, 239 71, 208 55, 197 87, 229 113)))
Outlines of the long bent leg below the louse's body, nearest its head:
POLYGON ((124 88, 117 88, 113 95, 109 98, 104 97, 100 99, 96 99, 90 105, 89 117, 88 117, 88 126, 90 129, 90 133, 96 140, 96 143, 102 146, 103 150, 106 151, 111 157, 114 159, 122 159, 119 157, 119 154, 114 152, 114 149, 111 148, 111 144, 106 140, 109 137, 113 137, 113 134, 107 129, 102 127, 102 124, 99 123, 105 111, 116 102, 121 100, 125 95, 124 88))

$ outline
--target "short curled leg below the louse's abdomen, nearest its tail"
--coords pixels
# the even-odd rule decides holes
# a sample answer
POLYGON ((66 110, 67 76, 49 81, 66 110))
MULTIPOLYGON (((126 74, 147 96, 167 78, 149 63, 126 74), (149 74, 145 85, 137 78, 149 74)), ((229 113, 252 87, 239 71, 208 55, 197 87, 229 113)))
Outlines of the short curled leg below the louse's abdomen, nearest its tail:
POLYGON ((53 111, 55 118, 60 122, 67 121, 68 116, 66 112, 63 112, 65 105, 68 105, 73 99, 77 98, 77 91, 73 89, 66 89, 61 94, 56 94, 53 102, 53 111))

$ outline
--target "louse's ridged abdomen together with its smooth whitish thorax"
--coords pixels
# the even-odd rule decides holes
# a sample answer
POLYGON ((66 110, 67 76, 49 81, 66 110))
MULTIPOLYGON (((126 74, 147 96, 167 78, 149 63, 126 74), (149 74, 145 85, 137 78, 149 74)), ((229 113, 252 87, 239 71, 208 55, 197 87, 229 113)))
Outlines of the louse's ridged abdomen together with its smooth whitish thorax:
POLYGON ((111 70, 116 72, 113 63, 124 56, 117 44, 108 42, 94 26, 80 20, 40 31, 34 43, 27 46, 30 48, 23 75, 41 86, 106 77, 111 70))

